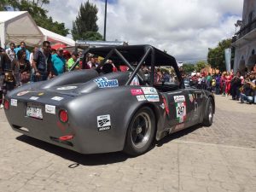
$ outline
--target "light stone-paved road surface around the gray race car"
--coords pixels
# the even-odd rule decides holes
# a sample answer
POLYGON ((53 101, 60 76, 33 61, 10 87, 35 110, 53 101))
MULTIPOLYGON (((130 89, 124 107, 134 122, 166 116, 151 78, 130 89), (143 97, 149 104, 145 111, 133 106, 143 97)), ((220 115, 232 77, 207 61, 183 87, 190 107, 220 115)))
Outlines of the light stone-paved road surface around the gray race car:
POLYGON ((256 105, 216 96, 211 127, 147 154, 77 154, 12 131, 0 110, 0 191, 256 191, 256 105))

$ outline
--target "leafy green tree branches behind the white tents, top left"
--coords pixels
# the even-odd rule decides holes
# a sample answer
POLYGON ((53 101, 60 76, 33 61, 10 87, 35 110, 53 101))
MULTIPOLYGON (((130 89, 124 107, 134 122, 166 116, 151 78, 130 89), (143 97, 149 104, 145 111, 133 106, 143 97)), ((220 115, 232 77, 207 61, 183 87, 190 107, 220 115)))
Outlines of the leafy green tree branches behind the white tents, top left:
POLYGON ((3 10, 4 5, 11 5, 15 9, 20 11, 27 11, 32 15, 38 26, 42 26, 51 32, 58 33, 63 36, 69 34, 68 29, 65 28, 64 23, 53 21, 53 19, 47 16, 48 11, 43 8, 44 4, 48 4, 49 0, 1 0, 0 9, 3 10))

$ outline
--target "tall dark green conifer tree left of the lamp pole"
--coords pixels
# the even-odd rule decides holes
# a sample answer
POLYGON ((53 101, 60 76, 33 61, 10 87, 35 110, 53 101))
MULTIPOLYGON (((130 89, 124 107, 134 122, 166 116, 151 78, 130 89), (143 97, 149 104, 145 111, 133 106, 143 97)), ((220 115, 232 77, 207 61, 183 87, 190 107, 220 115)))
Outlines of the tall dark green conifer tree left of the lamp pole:
POLYGON ((96 24, 98 9, 95 4, 86 3, 80 5, 79 15, 73 21, 71 31, 74 40, 102 40, 96 24))

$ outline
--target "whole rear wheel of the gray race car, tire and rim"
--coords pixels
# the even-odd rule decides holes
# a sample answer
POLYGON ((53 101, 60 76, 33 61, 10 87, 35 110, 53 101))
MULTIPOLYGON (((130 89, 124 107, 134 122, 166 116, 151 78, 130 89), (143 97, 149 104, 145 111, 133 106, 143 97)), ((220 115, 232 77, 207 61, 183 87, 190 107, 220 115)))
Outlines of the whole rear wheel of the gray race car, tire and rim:
POLYGON ((151 108, 140 108, 131 119, 125 139, 124 152, 137 156, 148 151, 154 140, 155 117, 151 108))

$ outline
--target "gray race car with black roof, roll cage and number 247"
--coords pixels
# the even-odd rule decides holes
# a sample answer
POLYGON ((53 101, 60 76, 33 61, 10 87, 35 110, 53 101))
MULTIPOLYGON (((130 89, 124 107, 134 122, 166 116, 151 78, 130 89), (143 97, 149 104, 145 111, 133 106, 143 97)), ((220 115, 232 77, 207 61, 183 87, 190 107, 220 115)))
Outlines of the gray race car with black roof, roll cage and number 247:
POLYGON ((84 65, 88 53, 104 58, 96 69, 26 84, 6 96, 5 114, 14 131, 82 154, 123 150, 139 155, 154 139, 196 124, 212 125, 214 96, 184 89, 171 55, 150 45, 90 48, 84 65), (109 73, 110 59, 129 70, 109 73), (168 84, 156 81, 163 66, 172 74, 168 84))

